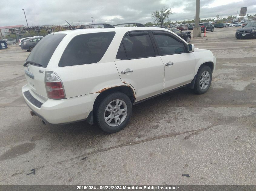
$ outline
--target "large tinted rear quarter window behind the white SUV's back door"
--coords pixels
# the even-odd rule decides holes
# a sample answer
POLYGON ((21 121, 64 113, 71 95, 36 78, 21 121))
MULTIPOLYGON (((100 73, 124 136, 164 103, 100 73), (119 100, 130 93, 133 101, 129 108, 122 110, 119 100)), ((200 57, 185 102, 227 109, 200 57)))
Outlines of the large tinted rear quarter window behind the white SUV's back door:
POLYGON ((115 32, 88 33, 75 36, 64 50, 58 66, 99 62, 114 36, 115 32))

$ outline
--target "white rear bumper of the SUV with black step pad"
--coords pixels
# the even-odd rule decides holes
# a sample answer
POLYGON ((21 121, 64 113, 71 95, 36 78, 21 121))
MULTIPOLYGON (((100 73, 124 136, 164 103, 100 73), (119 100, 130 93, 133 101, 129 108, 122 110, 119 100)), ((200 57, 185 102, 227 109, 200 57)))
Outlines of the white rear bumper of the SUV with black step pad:
POLYGON ((24 92, 27 91, 30 91, 30 89, 26 84, 22 87, 22 94, 28 107, 43 121, 51 124, 65 124, 85 120, 92 111, 94 101, 99 94, 87 94, 62 100, 48 99, 45 103, 42 103, 41 107, 37 107, 34 97, 33 99, 24 95, 24 92))

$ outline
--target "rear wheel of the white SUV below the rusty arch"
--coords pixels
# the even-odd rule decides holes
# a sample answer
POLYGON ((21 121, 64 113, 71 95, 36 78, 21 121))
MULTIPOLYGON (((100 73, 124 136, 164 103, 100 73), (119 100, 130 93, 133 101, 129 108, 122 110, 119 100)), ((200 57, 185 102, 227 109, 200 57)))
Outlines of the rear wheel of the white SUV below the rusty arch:
POLYGON ((130 98, 121 92, 106 96, 97 110, 98 126, 107 133, 118 132, 125 128, 132 113, 130 98))

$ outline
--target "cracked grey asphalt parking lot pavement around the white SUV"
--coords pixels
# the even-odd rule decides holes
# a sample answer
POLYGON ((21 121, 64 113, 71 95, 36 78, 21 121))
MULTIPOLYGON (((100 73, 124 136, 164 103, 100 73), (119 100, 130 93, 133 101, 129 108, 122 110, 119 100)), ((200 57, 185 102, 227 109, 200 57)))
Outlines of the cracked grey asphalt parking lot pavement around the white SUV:
POLYGON ((237 28, 191 39, 217 58, 206 94, 181 88, 135 105, 114 134, 32 117, 21 92, 29 53, 0 50, 0 184, 254 185, 256 39, 237 40, 237 28))

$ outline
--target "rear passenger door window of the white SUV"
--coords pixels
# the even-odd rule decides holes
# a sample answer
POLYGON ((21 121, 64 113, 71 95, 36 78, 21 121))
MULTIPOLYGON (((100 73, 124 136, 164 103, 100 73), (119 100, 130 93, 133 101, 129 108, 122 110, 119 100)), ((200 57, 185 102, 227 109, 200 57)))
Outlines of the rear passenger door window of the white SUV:
POLYGON ((124 49, 122 47, 119 49, 117 58, 121 54, 124 56, 123 53, 119 53, 123 50, 125 50, 127 59, 155 56, 155 50, 147 31, 128 33, 121 46, 124 46, 124 49))

